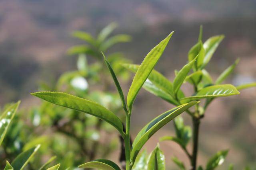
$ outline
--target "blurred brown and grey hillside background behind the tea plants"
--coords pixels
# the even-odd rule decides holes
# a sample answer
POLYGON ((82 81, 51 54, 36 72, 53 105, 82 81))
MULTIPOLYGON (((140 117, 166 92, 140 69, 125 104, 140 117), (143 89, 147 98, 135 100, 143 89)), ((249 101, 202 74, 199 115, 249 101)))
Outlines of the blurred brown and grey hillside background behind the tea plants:
MULTIPOLYGON (((114 33, 131 35, 132 41, 113 46, 126 59, 140 64, 146 54, 171 31, 175 31, 156 70, 174 78, 187 61, 189 49, 197 42, 199 27, 203 41, 224 34, 225 39, 207 69, 218 75, 240 58, 235 74, 228 79, 235 85, 256 81, 256 0, 1 0, 0 1, 0 105, 22 100, 24 112, 40 104, 30 96, 41 82, 51 84, 66 71, 76 69, 76 56, 67 50, 81 41, 71 36, 81 30, 96 36, 115 21, 114 33)), ((88 63, 94 59, 88 58, 88 63)), ((133 74, 131 74, 131 77, 133 74)), ((122 81, 127 94, 131 79, 122 81)), ((189 94, 191 87, 184 86, 189 94)), ((114 88, 113 88, 114 91, 114 88)), ((191 93, 190 93, 191 94, 191 93)), ((235 169, 254 165, 256 160, 256 90, 240 96, 219 98, 209 107, 200 129, 199 164, 218 150, 230 149, 220 169, 234 163, 235 169)), ((132 137, 156 115, 173 106, 141 90, 132 115, 132 137)), ((186 114, 186 124, 191 124, 186 114)), ((146 144, 150 152, 159 137, 174 134, 172 123, 156 133, 146 144)), ((161 142, 168 167, 176 155, 187 162, 173 142, 161 142)), ((191 147, 189 147, 191 149, 191 147)), ((114 155, 110 158, 117 160, 114 155)))

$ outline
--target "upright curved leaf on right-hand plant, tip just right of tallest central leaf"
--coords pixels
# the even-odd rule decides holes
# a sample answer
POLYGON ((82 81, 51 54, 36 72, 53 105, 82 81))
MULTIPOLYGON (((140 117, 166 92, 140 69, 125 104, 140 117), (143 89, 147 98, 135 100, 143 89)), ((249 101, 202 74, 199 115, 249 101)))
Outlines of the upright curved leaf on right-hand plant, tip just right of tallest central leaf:
POLYGON ((178 90, 180 89, 180 86, 184 82, 186 76, 188 75, 188 72, 192 68, 193 64, 195 63, 197 57, 194 58, 192 61, 190 61, 188 64, 182 67, 182 69, 178 72, 177 76, 173 80, 173 92, 174 94, 177 94, 178 90))

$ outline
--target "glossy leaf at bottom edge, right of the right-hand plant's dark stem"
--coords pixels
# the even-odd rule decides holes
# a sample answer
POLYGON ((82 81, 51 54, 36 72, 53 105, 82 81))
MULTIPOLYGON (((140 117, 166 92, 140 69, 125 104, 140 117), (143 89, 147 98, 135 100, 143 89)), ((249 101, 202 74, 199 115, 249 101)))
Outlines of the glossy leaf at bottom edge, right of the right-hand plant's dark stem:
POLYGON ((217 166, 220 166, 224 162, 227 154, 228 150, 222 150, 212 156, 206 164, 206 170, 214 170, 217 166))

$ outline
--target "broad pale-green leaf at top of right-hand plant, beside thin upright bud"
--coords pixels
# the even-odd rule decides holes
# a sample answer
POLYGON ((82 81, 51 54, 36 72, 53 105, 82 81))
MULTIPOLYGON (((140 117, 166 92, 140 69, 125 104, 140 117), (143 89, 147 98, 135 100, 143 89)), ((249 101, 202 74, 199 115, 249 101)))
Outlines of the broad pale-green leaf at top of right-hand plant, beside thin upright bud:
POLYGON ((218 45, 223 39, 224 39, 224 35, 217 35, 214 37, 210 37, 205 41, 204 43, 205 57, 204 57, 203 64, 201 66, 201 70, 206 66, 206 64, 209 63, 209 61, 212 58, 212 55, 214 54, 218 45))

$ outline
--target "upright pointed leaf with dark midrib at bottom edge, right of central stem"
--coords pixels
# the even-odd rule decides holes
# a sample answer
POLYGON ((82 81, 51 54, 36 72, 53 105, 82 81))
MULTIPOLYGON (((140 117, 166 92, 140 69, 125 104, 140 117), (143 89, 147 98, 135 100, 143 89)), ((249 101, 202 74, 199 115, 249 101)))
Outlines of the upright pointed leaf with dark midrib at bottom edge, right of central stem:
POLYGON ((150 154, 148 160, 149 170, 165 170, 165 158, 162 150, 157 146, 150 154))

